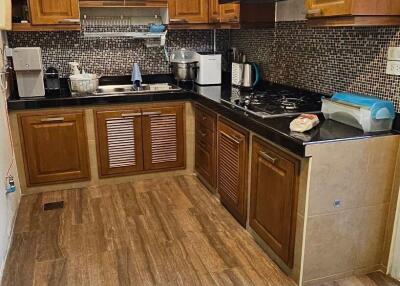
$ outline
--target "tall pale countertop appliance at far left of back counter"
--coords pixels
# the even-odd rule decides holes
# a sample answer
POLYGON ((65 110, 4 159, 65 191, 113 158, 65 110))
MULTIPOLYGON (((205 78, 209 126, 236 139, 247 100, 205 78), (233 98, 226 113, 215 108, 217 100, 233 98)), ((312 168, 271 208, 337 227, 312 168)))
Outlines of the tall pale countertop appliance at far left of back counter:
POLYGON ((20 97, 44 96, 42 52, 40 48, 12 49, 20 97))

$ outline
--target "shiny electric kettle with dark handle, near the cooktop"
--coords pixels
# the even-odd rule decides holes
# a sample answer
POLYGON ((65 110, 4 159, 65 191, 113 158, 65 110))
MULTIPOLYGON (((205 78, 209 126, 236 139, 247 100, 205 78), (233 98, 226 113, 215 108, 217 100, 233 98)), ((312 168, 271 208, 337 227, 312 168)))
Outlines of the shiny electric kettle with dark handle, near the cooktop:
POLYGON ((260 78, 260 69, 257 64, 232 63, 232 85, 253 88, 260 78))

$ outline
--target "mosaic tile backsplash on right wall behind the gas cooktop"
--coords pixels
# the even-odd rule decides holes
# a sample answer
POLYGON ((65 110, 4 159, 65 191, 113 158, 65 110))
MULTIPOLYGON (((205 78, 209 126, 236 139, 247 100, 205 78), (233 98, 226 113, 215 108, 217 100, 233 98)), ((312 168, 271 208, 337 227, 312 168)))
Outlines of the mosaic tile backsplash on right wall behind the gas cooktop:
POLYGON ((399 27, 308 27, 235 30, 231 44, 261 64, 264 77, 312 91, 350 91, 392 100, 400 111, 400 77, 386 75, 388 48, 400 46, 399 27))

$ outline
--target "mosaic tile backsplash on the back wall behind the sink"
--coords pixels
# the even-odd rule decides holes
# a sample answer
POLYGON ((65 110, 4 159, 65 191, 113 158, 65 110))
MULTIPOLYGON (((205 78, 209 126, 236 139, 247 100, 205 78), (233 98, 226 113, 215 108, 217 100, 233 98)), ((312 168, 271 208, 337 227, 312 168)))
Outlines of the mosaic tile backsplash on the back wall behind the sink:
MULTIPOLYGON (((91 27, 92 28, 92 27, 91 27)), ((108 27, 109 30, 115 30, 108 27)), ((147 30, 147 26, 136 26, 130 31, 147 30)), ((97 29, 97 31, 99 31, 97 29)), ((101 29, 101 30, 104 30, 101 29)), ((219 32, 218 36, 226 33, 219 32)), ((124 38, 90 39, 83 32, 36 32, 9 33, 11 47, 41 47, 43 65, 56 67, 61 75, 68 75, 68 62, 79 62, 86 72, 102 75, 130 74, 132 64, 139 63, 143 74, 169 73, 169 65, 165 60, 161 47, 147 48, 144 40, 124 38)), ((227 40, 221 40, 227 43, 227 40)), ((167 35, 169 50, 179 48, 210 51, 213 48, 212 32, 169 31, 167 35)))

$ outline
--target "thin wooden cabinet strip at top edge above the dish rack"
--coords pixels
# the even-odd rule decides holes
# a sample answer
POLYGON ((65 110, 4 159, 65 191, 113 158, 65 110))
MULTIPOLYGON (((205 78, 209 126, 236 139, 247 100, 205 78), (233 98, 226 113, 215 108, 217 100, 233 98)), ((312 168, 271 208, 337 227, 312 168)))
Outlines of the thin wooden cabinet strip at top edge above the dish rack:
POLYGON ((167 0, 147 0, 147 1, 79 1, 80 8, 167 8, 167 0))

